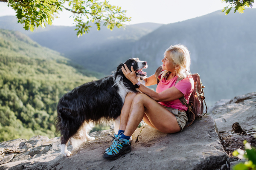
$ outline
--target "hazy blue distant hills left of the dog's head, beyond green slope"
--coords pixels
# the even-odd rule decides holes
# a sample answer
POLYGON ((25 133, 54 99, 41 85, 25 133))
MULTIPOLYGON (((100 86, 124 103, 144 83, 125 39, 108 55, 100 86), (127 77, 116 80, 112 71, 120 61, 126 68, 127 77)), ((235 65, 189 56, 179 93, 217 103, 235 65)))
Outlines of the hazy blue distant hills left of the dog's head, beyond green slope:
POLYGON ((97 31, 92 25, 93 28, 90 28, 89 34, 77 38, 75 27, 47 26, 45 29, 38 28, 38 31, 31 33, 24 31, 22 25, 17 24, 14 16, 0 17, 0 28, 21 31, 40 45, 59 51, 73 62, 105 75, 111 74, 116 69, 116 63, 123 62, 124 58, 130 58, 131 48, 136 40, 162 25, 140 23, 126 26, 125 29, 114 28, 113 31, 106 27, 97 31), (113 55, 118 57, 113 60, 113 55), (105 66, 102 67, 102 65, 105 66))

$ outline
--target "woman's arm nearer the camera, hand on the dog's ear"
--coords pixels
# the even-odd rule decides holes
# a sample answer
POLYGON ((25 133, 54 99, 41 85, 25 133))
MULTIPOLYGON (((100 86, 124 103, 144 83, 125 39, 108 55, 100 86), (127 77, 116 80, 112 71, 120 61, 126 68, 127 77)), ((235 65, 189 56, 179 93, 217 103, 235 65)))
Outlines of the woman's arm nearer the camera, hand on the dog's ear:
MULTIPOLYGON (((131 67, 131 71, 129 71, 127 65, 125 65, 125 68, 122 66, 122 72, 125 75, 125 77, 127 79, 129 79, 134 85, 137 82, 139 82, 137 80, 137 76, 136 76, 136 73, 135 73, 133 67, 131 67)), ((162 91, 161 93, 157 93, 141 84, 139 87, 139 90, 157 102, 172 101, 172 100, 179 99, 180 97, 184 96, 184 94, 181 93, 175 87, 171 87, 171 88, 166 89, 165 91, 162 91)))

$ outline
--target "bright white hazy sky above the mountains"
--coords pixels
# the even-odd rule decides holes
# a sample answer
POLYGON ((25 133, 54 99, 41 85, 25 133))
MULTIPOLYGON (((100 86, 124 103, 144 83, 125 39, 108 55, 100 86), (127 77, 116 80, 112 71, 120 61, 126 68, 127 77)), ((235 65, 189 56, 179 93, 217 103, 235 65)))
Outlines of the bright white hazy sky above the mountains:
MULTIPOLYGON (((227 6, 226 3, 221 3, 221 0, 109 0, 109 3, 127 10, 127 16, 132 20, 129 24, 175 23, 227 6)), ((0 16, 6 15, 15 15, 15 11, 8 7, 7 3, 0 2, 0 16)), ((73 18, 70 15, 71 12, 64 10, 59 14, 59 18, 53 21, 53 25, 72 26, 73 18)))

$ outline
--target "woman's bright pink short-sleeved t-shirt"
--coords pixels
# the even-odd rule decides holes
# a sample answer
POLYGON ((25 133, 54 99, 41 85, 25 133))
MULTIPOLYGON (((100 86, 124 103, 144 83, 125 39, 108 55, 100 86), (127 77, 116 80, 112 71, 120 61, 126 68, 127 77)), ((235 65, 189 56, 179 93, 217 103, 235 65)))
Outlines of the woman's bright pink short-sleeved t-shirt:
MULTIPOLYGON (((160 75, 161 76, 161 75, 160 75)), ((159 78, 160 78, 159 76, 159 78)), ((186 77, 185 79, 180 80, 176 85, 175 82, 178 76, 173 77, 172 79, 166 80, 163 78, 157 85, 157 93, 161 93, 168 88, 175 87, 181 93, 184 94, 184 97, 187 101, 189 101, 189 97, 192 94, 194 89, 194 80, 191 75, 186 77)), ((182 105, 179 99, 168 101, 168 102, 159 102, 161 105, 167 106, 169 108, 175 108, 179 110, 186 111, 188 108, 185 105, 182 105)))

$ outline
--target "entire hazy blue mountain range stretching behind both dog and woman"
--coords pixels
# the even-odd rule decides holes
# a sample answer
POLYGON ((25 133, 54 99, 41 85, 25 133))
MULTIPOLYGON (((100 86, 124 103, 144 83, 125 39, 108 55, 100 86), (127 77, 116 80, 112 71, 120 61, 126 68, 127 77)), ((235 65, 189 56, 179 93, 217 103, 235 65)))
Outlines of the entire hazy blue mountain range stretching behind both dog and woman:
MULTIPOLYGON (((156 26, 153 31, 142 31, 143 34, 140 34, 142 29, 152 27, 143 23, 126 30, 116 29, 116 32, 103 28, 102 31, 92 30, 83 39, 65 37, 68 31, 73 34, 70 27, 63 27, 66 30, 59 33, 58 29, 54 31, 57 27, 49 27, 52 31, 39 30, 29 36, 39 43, 49 43, 47 47, 51 49, 58 48, 57 51, 73 62, 103 74, 110 74, 119 62, 139 57, 148 62, 149 76, 161 65, 166 48, 179 43, 186 45, 191 52, 191 72, 201 75, 206 86, 206 101, 212 105, 219 99, 255 91, 255 19, 256 9, 247 8, 244 14, 225 15, 215 11, 183 22, 156 26)), ((3 26, 1 21, 0 26, 3 26)))

